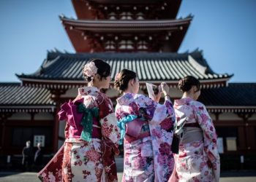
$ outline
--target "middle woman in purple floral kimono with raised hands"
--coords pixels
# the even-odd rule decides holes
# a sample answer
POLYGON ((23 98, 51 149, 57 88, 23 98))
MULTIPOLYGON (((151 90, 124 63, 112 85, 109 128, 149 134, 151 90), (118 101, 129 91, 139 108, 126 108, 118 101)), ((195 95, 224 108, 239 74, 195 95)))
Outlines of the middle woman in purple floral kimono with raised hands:
POLYGON ((139 81, 134 71, 123 69, 116 76, 115 87, 123 93, 116 105, 118 127, 121 139, 124 138, 122 181, 164 182, 173 172, 171 143, 175 115, 169 87, 165 83, 161 86, 165 94, 163 105, 138 94, 139 81))

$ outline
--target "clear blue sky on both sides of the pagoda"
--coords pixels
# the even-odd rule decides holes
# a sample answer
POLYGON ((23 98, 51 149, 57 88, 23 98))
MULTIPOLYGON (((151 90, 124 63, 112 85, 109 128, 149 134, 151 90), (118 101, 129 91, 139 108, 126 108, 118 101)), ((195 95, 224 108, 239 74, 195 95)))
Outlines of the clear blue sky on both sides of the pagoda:
MULTIPOLYGON (((177 17, 194 15, 178 52, 197 47, 230 82, 256 82, 256 1, 183 0, 177 17)), ((75 52, 59 15, 76 17, 71 0, 0 1, 0 82, 37 71, 47 50, 75 52)))

